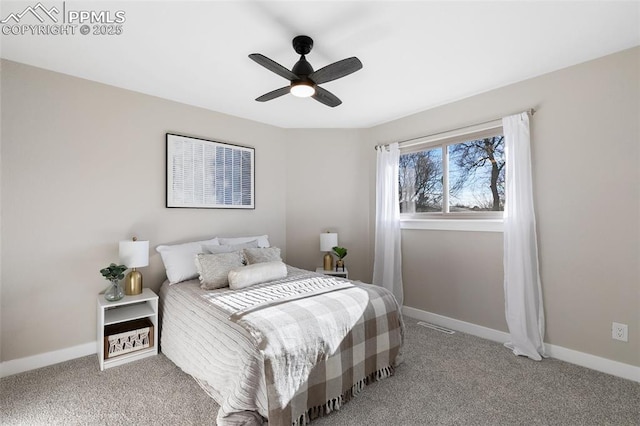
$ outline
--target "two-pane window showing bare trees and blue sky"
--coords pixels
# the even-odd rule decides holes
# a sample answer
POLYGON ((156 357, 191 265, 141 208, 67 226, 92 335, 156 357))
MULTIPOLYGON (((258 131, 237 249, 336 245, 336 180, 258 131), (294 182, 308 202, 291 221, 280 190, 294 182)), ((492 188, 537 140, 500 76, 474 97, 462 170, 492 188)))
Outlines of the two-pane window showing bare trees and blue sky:
POLYGON ((399 198, 404 219, 502 218, 501 127, 401 149, 399 198))

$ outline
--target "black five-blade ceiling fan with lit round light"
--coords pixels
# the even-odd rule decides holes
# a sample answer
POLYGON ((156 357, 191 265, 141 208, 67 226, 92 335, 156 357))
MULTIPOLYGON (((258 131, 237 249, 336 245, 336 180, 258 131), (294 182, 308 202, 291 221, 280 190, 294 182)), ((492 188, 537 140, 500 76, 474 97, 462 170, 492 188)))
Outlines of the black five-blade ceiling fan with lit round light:
POLYGON ((301 56, 300 60, 296 62, 291 71, 260 53, 252 53, 249 55, 251 59, 266 69, 273 71, 291 82, 289 86, 281 87, 269 93, 265 93, 264 95, 256 98, 256 101, 270 101, 271 99, 291 93, 292 95, 301 98, 312 97, 316 101, 330 107, 337 107, 340 105, 342 101, 338 99, 336 95, 318 85, 328 81, 337 80, 338 78, 345 77, 358 71, 362 68, 362 62, 353 56, 314 71, 311 64, 307 62, 307 59, 305 58, 305 55, 311 52, 312 47, 313 40, 311 37, 300 35, 293 39, 293 48, 296 53, 301 56))

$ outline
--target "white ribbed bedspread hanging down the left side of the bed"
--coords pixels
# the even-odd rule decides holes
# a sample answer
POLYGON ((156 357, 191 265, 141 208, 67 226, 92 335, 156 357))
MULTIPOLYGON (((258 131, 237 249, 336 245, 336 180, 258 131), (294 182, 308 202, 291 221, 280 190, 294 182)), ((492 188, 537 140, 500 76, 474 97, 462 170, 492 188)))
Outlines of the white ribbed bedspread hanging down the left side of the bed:
POLYGON ((203 292, 198 279, 163 284, 162 353, 220 404, 218 425, 262 424, 255 415, 268 414, 262 359, 251 336, 211 309, 203 292))

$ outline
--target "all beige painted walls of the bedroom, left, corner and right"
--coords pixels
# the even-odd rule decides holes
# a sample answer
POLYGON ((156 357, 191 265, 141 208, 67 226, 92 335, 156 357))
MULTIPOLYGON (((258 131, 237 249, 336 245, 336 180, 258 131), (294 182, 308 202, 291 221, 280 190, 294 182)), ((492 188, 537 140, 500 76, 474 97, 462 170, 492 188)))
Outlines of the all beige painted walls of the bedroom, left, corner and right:
MULTIPOLYGON (((371 129, 284 130, 2 62, 0 359, 94 340, 98 269, 134 232, 157 245, 265 231, 313 269, 330 229, 370 282, 372 146, 535 107, 546 340, 640 365, 639 63, 636 48, 371 129), (256 210, 165 209, 167 131, 255 146, 256 210)), ((406 305, 506 330, 502 234, 405 230, 403 253, 406 305)))

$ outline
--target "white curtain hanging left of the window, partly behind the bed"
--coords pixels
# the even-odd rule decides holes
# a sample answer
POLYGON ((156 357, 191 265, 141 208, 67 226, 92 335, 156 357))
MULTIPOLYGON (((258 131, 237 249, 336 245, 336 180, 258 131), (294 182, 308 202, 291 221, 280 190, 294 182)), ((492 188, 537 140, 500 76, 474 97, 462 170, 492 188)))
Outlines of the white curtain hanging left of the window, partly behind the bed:
POLYGON ((398 143, 378 148, 376 169, 376 233, 373 284, 390 290, 402 306, 402 254, 398 198, 398 143))

